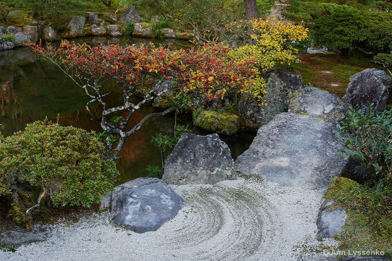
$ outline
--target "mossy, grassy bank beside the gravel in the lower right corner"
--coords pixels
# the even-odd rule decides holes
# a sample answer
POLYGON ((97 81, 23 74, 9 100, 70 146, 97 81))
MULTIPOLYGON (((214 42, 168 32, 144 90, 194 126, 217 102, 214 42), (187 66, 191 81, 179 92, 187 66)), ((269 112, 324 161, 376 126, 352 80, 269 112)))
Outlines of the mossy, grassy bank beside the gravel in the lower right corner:
POLYGON ((387 194, 360 185, 345 178, 331 181, 324 197, 336 201, 336 207, 346 210, 347 220, 341 234, 335 236, 340 241, 340 250, 371 251, 385 253, 392 258, 392 208, 387 194), (389 209, 389 210, 388 210, 389 209))

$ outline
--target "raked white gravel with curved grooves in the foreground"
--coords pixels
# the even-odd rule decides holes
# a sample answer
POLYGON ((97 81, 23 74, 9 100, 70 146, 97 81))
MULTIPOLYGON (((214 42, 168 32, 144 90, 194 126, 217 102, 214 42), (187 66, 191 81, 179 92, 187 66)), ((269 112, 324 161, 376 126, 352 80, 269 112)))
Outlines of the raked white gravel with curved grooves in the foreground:
POLYGON ((157 231, 127 231, 103 212, 48 227, 46 241, 0 252, 0 260, 290 261, 316 259, 322 252, 315 250, 336 247, 315 238, 323 191, 257 178, 172 188, 188 205, 157 231))

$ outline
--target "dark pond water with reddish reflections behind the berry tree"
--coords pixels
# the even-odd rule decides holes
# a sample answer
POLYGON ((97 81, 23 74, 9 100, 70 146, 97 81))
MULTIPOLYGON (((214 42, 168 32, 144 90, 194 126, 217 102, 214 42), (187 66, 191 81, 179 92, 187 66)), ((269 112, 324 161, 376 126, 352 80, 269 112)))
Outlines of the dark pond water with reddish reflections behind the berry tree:
MULTIPOLYGON (((74 43, 108 44, 148 44, 150 39, 90 37, 71 40, 74 43)), ((155 44, 177 48, 187 48, 190 43, 179 40, 154 41, 155 44)), ((115 84, 115 83, 110 83, 115 84)), ((94 121, 85 109, 87 95, 77 87, 71 79, 55 65, 42 61, 30 48, 18 48, 0 51, 0 130, 4 136, 15 131, 24 130, 27 123, 44 120, 48 117, 56 122, 60 114, 59 124, 73 125, 87 131, 100 132, 99 123, 94 121)), ((93 108, 99 111, 99 108, 93 108)), ((152 112, 151 105, 138 110, 132 116, 137 123, 146 114, 152 112)), ((189 124, 196 134, 206 135, 212 132, 196 128, 192 124, 190 114, 178 116, 178 124, 189 124)), ((151 143, 155 133, 171 134, 174 127, 174 114, 153 118, 128 138, 123 148, 121 159, 117 165, 121 176, 118 183, 147 175, 148 165, 161 165, 159 149, 151 143)), ((233 158, 243 153, 251 144, 255 132, 240 132, 236 135, 220 134, 232 152, 233 158)))

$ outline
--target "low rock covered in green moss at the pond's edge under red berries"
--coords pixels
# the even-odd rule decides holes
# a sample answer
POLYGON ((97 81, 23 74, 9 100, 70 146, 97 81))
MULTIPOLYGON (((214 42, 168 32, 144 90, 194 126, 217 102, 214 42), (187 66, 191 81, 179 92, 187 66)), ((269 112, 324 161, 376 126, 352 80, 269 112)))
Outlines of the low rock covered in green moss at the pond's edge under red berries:
POLYGON ((194 123, 209 131, 234 134, 240 128, 240 117, 227 112, 201 110, 194 113, 194 123))

